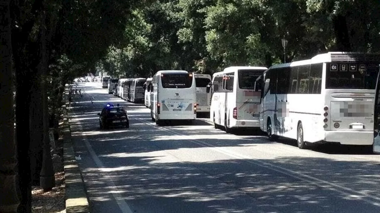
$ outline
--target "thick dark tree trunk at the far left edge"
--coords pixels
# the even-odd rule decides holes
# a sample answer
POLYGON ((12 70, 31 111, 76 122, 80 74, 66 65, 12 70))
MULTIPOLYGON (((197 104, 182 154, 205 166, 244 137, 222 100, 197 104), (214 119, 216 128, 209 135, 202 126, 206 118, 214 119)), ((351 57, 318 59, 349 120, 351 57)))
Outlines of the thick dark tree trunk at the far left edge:
POLYGON ((0 2, 0 212, 16 213, 16 140, 14 130, 14 73, 12 69, 10 0, 0 2))

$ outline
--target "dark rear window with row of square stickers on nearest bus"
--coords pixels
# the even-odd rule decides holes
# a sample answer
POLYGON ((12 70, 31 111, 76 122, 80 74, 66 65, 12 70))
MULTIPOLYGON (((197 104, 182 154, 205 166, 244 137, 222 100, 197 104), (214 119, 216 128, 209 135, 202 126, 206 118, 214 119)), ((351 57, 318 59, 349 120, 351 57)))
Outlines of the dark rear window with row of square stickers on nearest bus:
POLYGON ((375 89, 378 64, 328 63, 326 89, 375 89))

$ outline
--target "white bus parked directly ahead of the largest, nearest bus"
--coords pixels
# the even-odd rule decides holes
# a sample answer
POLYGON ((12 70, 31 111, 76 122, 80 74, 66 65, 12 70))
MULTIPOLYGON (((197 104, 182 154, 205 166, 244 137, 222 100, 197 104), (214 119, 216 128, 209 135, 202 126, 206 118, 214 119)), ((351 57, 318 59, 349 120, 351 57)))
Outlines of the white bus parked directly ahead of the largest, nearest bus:
MULTIPOLYGON (((215 128, 260 128, 260 92, 255 80, 266 67, 234 66, 212 75, 210 120, 215 128)), ((209 89, 207 89, 209 91, 209 89)))

